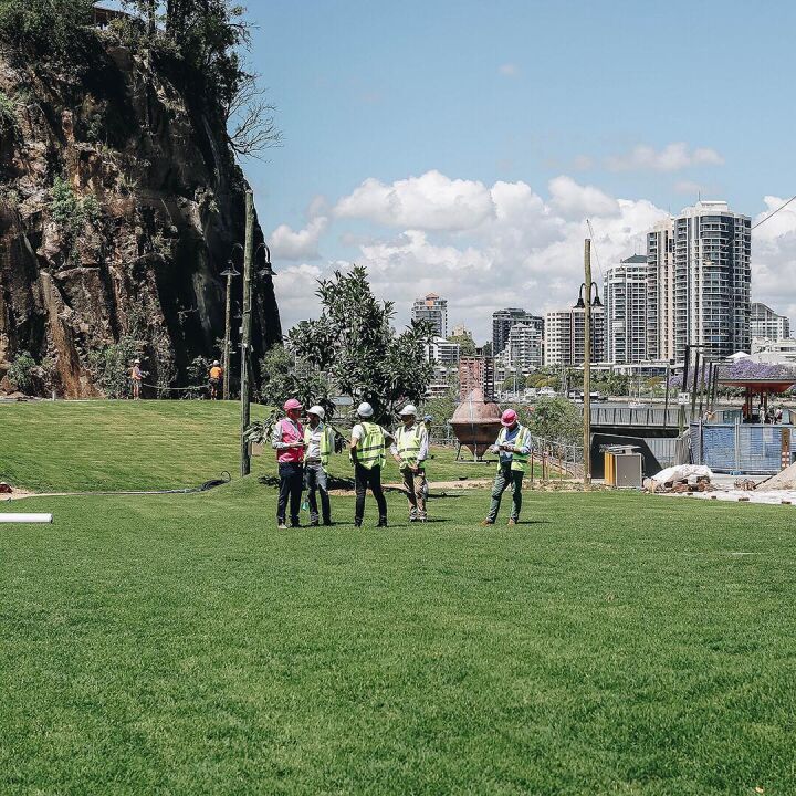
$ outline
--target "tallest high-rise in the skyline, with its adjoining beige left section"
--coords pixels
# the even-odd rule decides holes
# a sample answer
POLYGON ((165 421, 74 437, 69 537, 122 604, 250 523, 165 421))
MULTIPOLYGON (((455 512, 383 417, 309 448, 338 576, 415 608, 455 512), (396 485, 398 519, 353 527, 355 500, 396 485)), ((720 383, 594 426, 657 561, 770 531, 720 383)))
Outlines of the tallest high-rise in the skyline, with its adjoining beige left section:
POLYGON ((647 235, 650 359, 682 360, 687 344, 748 352, 750 258, 751 220, 723 201, 699 201, 647 235))

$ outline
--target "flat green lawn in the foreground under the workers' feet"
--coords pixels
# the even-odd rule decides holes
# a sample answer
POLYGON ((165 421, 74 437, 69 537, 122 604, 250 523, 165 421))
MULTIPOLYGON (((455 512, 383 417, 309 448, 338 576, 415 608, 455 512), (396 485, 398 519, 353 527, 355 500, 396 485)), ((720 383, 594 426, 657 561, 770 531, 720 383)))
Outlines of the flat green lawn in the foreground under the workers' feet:
POLYGON ((796 793, 793 507, 488 500, 13 504, 55 523, 0 525, 0 793, 796 793))

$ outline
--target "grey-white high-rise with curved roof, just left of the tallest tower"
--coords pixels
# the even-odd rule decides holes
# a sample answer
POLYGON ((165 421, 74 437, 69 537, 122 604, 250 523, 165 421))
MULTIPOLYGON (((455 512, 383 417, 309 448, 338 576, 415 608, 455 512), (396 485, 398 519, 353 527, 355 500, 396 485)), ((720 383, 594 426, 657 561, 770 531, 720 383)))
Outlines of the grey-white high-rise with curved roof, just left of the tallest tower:
POLYGON ((606 359, 629 365, 651 359, 649 327, 657 303, 649 295, 652 269, 646 254, 633 254, 605 276, 606 359))

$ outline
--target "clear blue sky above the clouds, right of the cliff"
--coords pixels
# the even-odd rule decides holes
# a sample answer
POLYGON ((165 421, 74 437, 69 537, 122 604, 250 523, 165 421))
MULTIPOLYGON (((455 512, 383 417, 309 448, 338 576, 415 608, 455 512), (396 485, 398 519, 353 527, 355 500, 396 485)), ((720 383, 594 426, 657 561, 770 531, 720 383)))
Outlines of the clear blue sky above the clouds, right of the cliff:
POLYGON ((259 2, 250 17, 285 137, 249 167, 264 222, 300 223, 314 195, 429 169, 532 186, 573 172, 672 209, 692 197, 678 184, 698 182, 747 213, 793 187, 793 3, 259 2), (725 163, 599 168, 672 142, 725 163), (574 168, 584 156, 597 168, 574 168))

